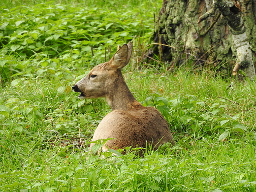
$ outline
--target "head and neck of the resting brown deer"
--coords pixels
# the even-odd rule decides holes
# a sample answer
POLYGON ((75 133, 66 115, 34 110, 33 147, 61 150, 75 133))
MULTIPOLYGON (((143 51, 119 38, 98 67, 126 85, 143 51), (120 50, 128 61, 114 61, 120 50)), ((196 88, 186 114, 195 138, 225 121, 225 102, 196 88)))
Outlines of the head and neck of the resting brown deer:
POLYGON ((73 86, 73 91, 81 93, 78 98, 105 97, 112 109, 127 110, 133 105, 137 106, 139 103, 130 93, 121 73, 121 69, 128 64, 131 53, 132 44, 129 42, 109 62, 96 65, 73 86))

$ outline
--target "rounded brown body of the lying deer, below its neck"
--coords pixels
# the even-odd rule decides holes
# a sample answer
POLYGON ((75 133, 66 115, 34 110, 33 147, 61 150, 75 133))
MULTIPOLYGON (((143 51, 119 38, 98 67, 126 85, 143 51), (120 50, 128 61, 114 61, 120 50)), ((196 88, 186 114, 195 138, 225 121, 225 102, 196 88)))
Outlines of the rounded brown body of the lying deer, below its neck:
MULTIPOLYGON (((143 147, 173 142, 167 122, 153 107, 137 107, 128 111, 114 110, 107 114, 95 130, 92 141, 107 139, 103 150, 123 149, 127 146, 143 147)), ((90 148, 94 143, 91 144, 90 148)))

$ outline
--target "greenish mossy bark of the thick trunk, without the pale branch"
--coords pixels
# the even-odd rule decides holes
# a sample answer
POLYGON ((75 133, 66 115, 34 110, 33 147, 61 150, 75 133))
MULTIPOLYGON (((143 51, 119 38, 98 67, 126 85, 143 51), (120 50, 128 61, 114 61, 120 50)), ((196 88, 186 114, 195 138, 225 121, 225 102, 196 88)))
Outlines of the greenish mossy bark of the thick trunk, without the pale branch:
MULTIPOLYGON (((240 4, 255 63, 256 0, 243 0, 240 4)), ((154 41, 175 48, 156 45, 153 54, 160 55, 161 61, 182 64, 191 55, 202 63, 207 60, 209 53, 214 52, 217 62, 230 68, 236 61, 236 48, 227 20, 221 15, 206 34, 219 11, 197 24, 199 17, 211 6, 212 0, 164 0, 155 25, 154 41)))

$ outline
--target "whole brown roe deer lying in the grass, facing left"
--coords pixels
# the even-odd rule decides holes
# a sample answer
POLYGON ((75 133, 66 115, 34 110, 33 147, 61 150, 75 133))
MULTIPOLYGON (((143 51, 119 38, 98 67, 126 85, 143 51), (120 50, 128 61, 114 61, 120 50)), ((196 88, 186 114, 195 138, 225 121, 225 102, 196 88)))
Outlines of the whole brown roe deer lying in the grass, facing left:
MULTIPOLYGON (((160 112, 153 107, 142 106, 129 91, 121 69, 130 60, 132 43, 123 45, 109 62, 96 65, 73 87, 80 92, 78 98, 105 97, 112 108, 99 123, 92 141, 108 140, 102 150, 123 149, 127 146, 143 147, 152 145, 157 149, 161 144, 175 144, 169 126, 160 112)), ((94 143, 90 145, 90 149, 94 143)), ((142 155, 142 153, 139 153, 142 155)))

